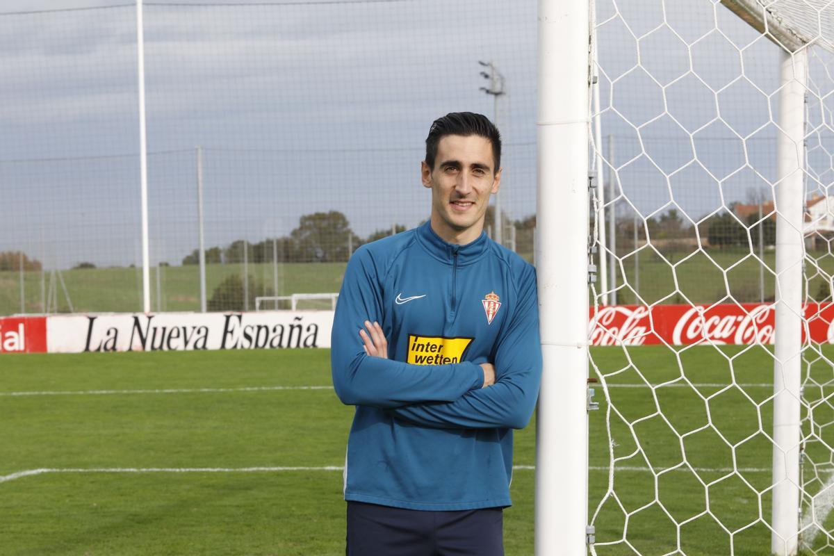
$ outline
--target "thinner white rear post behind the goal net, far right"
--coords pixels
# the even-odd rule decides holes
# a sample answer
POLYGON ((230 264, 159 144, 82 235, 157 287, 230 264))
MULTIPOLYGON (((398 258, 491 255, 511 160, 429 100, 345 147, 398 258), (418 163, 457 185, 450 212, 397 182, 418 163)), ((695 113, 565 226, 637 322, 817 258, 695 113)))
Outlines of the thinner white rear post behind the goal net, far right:
POLYGON ((771 552, 796 554, 801 420, 802 205, 807 54, 781 53, 776 143, 776 329, 771 552))

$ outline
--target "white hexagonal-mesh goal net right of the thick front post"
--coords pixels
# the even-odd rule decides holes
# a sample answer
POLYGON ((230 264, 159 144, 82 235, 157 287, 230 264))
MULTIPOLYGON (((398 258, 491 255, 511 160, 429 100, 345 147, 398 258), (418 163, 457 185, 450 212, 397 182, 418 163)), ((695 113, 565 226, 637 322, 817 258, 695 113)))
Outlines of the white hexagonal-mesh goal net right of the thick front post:
POLYGON ((589 541, 834 548, 834 5, 592 9, 589 541))

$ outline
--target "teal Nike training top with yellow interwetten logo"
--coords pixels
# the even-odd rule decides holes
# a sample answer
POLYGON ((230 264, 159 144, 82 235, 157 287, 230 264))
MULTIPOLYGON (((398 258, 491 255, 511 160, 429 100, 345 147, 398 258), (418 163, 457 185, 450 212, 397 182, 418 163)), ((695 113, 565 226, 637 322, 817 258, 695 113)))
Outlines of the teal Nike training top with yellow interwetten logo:
POLYGON ((356 406, 344 498, 398 508, 510 505, 513 428, 530 421, 541 346, 535 269, 481 233, 430 223, 356 250, 333 323, 333 384, 356 406), (388 359, 364 353, 378 321, 388 359), (480 363, 495 365, 484 383, 480 363))

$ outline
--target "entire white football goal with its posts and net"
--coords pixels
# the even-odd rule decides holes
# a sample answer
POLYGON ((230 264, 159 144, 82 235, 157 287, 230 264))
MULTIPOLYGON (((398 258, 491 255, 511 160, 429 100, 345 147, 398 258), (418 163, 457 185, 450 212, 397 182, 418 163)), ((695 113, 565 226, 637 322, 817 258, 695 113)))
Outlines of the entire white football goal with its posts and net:
POLYGON ((834 251, 815 222, 834 198, 834 4, 540 0, 539 34, 536 553, 831 549, 834 251), (613 293, 649 325, 592 318, 611 347, 589 354, 589 298, 600 314, 613 293), (697 345, 660 338, 666 304, 691 309, 697 345), (722 305, 741 311, 724 335, 722 305))

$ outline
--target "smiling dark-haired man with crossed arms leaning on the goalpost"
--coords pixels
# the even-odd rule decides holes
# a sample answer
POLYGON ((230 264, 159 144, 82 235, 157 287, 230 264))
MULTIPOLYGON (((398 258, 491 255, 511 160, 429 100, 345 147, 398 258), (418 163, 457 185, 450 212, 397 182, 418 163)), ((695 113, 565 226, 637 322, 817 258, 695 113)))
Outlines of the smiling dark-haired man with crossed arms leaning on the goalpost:
POLYGON ((363 245, 344 273, 331 364, 356 406, 350 556, 504 553, 512 429, 530 421, 541 350, 535 270, 483 232, 500 152, 488 118, 436 120, 430 221, 363 245))

